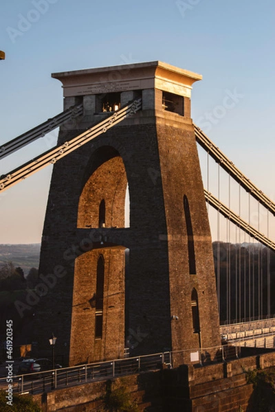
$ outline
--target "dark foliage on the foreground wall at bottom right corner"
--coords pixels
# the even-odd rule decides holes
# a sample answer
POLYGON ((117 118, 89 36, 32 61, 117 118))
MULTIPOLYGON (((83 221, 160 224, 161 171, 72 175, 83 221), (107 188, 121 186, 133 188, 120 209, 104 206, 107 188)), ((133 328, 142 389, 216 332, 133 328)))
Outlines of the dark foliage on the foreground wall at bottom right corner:
POLYGON ((246 380, 254 387, 252 411, 273 411, 275 407, 275 367, 247 371, 246 380))

